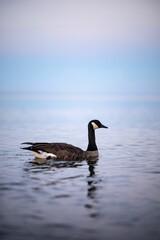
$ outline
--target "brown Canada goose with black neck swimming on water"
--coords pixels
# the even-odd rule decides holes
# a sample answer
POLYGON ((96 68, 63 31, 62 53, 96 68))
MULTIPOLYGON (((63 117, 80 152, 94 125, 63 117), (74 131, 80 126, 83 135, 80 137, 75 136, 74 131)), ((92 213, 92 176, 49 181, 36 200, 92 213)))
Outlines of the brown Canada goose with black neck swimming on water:
POLYGON ((108 128, 99 120, 91 120, 88 123, 88 147, 86 151, 81 148, 67 143, 32 143, 24 142, 30 146, 22 149, 30 150, 36 158, 50 159, 56 158, 61 160, 83 160, 98 157, 98 148, 95 142, 95 129, 108 128))

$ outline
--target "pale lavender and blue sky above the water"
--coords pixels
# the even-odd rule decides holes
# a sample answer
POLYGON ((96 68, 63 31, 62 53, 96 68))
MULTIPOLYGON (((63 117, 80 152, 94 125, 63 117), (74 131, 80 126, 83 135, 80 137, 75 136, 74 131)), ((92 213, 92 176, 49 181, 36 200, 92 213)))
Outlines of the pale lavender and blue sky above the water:
POLYGON ((0 90, 160 93, 160 1, 1 0, 0 90))

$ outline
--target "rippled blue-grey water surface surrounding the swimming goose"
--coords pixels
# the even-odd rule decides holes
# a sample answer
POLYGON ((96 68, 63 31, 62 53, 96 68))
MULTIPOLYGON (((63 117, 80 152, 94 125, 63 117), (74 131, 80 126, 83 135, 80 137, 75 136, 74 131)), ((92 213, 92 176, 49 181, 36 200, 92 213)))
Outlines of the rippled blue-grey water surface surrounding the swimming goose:
POLYGON ((160 98, 0 95, 0 238, 160 239, 160 98), (96 162, 37 165, 24 141, 87 145, 96 162))

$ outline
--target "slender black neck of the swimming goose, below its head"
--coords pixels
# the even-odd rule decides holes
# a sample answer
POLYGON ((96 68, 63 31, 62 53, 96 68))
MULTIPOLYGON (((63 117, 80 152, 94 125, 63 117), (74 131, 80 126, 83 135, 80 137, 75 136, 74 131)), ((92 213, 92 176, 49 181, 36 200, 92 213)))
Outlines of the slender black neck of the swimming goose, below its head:
POLYGON ((91 124, 88 124, 88 148, 87 151, 96 151, 96 139, 95 139, 95 130, 91 124))

